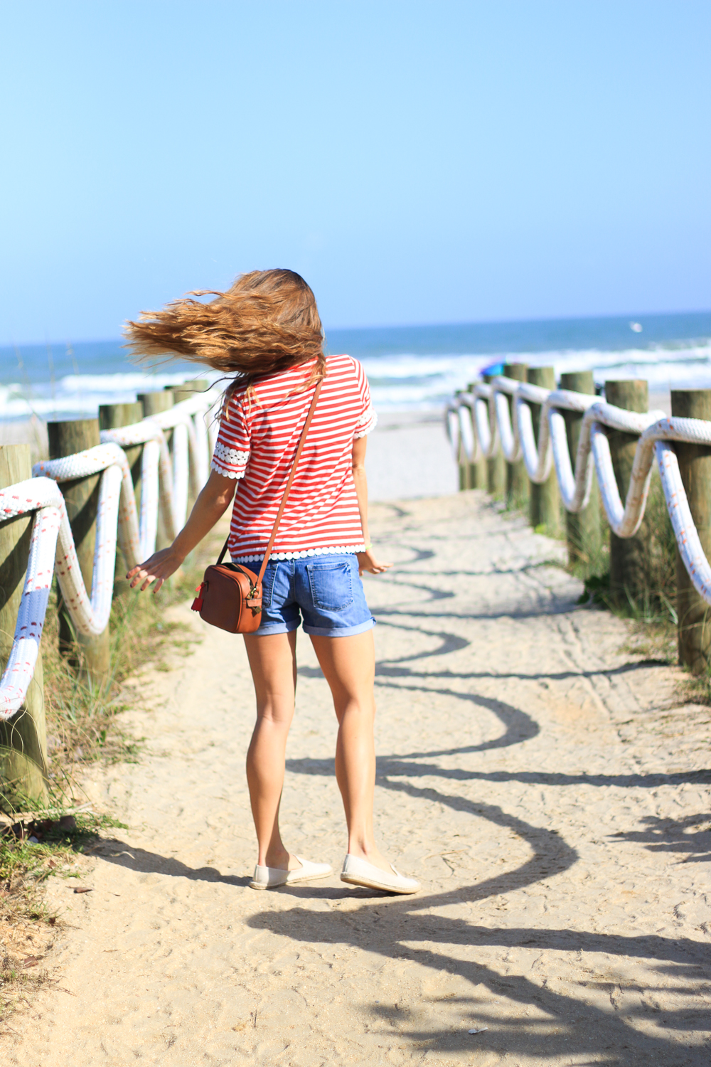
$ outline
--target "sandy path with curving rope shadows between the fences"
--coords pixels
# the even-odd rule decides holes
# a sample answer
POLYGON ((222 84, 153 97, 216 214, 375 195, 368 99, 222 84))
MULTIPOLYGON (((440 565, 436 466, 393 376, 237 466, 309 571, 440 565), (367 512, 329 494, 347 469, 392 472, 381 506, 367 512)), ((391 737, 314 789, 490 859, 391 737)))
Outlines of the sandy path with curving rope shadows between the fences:
MULTIPOLYGON (((475 493, 373 510, 400 564, 368 584, 377 824, 423 892, 246 887, 246 660, 193 623, 194 654, 146 672, 145 758, 92 784, 131 829, 86 861, 93 893, 50 886, 58 988, 5 1063, 709 1063, 708 710, 575 607, 521 519, 475 493)), ((337 866, 333 713, 300 650, 284 825, 337 866)))

